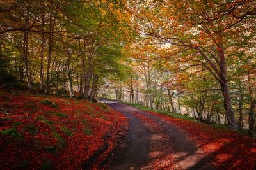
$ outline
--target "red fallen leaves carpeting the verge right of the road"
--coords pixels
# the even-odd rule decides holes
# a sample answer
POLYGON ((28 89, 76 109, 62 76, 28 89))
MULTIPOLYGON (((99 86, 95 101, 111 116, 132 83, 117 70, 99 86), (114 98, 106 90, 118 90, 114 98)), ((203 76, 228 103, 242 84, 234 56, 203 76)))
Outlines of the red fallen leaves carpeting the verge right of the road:
POLYGON ((150 112, 184 129, 205 154, 214 157, 218 169, 255 169, 256 140, 228 129, 217 129, 207 124, 168 117, 150 112))

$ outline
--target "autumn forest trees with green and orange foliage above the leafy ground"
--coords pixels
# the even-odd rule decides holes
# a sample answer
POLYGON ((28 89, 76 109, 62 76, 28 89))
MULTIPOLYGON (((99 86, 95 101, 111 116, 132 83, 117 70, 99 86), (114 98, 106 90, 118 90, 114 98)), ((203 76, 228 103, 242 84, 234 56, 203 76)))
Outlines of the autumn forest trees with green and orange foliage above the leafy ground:
POLYGON ((102 114, 93 104, 112 99, 255 137, 255 23, 253 0, 2 0, 0 130, 9 89, 102 114))

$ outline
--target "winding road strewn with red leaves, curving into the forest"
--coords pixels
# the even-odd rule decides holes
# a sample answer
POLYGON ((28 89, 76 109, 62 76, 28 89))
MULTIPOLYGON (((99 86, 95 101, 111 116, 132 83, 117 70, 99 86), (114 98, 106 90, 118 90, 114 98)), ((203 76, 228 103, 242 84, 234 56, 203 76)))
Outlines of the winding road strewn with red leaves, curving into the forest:
POLYGON ((108 169, 214 169, 211 158, 179 128, 118 101, 103 101, 129 118, 120 151, 108 169))

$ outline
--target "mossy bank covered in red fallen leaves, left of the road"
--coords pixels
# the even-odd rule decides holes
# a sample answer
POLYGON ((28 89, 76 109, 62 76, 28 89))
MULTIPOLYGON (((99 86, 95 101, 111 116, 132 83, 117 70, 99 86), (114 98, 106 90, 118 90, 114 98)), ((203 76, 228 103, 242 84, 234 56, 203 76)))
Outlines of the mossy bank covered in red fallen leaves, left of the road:
POLYGON ((58 105, 52 108, 40 103, 45 96, 15 93, 1 91, 10 100, 0 95, 0 104, 8 103, 10 108, 6 116, 0 110, 0 131, 15 127, 22 139, 0 134, 0 169, 18 168, 24 162, 26 169, 40 169, 45 160, 56 169, 79 169, 103 145, 104 134, 111 136, 108 153, 127 129, 121 113, 97 103, 52 96, 48 99, 58 105))

